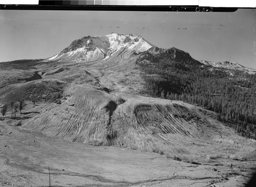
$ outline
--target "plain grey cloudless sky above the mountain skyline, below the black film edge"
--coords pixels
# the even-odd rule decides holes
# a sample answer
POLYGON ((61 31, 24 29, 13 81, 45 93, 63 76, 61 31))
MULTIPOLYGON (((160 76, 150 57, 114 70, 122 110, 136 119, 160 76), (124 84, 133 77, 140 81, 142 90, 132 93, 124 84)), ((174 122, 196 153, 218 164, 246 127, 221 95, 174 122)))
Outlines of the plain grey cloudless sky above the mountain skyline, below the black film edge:
POLYGON ((255 13, 0 10, 0 62, 47 58, 75 39, 115 32, 137 33, 198 60, 256 69, 255 13))

